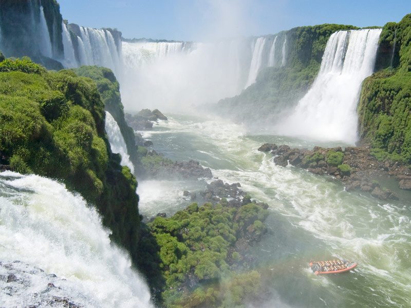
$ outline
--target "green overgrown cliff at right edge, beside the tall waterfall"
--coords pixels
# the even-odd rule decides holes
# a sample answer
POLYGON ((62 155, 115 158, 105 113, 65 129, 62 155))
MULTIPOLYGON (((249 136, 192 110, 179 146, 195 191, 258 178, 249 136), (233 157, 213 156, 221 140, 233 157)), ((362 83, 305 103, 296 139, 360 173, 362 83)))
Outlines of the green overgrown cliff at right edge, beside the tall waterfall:
POLYGON ((377 73, 364 80, 359 136, 379 159, 411 163, 411 14, 380 36, 377 73))

